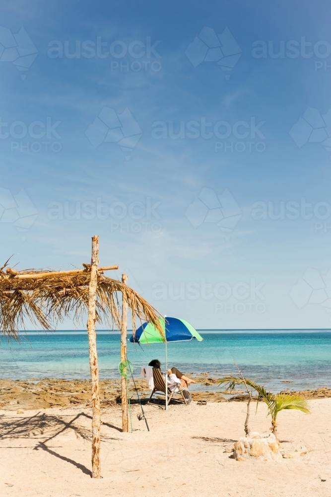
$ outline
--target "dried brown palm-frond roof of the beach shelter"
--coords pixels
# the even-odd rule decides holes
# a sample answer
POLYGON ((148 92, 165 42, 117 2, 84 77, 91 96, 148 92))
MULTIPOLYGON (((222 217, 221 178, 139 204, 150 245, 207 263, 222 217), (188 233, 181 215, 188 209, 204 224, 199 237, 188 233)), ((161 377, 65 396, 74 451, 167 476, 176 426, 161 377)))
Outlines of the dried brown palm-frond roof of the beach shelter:
MULTIPOLYGON (((91 265, 82 265, 84 269, 69 271, 17 271, 6 267, 5 263, 0 268, 0 333, 17 339, 18 331, 25 329, 27 321, 44 330, 51 330, 54 324, 71 315, 78 323, 88 307, 91 274, 91 265)), ((158 319, 160 314, 132 288, 105 276, 103 271, 109 269, 118 269, 118 266, 98 267, 97 322, 121 327, 118 299, 118 292, 121 292, 132 312, 133 333, 137 318, 140 322, 152 322, 163 335, 158 319)))

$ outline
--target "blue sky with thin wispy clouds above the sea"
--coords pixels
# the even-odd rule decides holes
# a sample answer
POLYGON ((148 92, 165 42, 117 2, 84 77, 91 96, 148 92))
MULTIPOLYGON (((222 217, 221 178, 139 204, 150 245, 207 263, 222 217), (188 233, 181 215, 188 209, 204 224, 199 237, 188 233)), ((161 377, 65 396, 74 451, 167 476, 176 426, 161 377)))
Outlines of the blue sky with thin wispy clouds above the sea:
POLYGON ((80 266, 98 234, 197 328, 329 328, 330 10, 2 2, 0 260, 80 266))

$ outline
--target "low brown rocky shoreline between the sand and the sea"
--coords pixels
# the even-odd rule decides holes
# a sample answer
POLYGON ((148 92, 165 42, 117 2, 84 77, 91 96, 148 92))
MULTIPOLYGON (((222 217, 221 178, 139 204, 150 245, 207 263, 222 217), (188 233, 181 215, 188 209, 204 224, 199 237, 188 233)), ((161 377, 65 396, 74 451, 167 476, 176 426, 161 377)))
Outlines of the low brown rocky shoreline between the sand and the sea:
MULTIPOLYGON (((243 390, 236 391, 236 395, 224 395, 218 386, 218 378, 206 377, 206 373, 195 376, 201 388, 214 386, 213 390, 191 392, 193 401, 207 402, 245 401, 247 396, 243 390)), ((139 395, 145 399, 150 395, 145 379, 136 378, 135 384, 139 395)), ((286 390, 287 393, 293 391, 286 390)), ((132 403, 137 396, 132 380, 129 381, 129 393, 132 403)), ((321 387, 300 392, 305 399, 321 399, 331 397, 331 389, 321 387)), ((77 405, 90 405, 91 387, 89 380, 64 380, 44 378, 41 380, 0 380, 0 410, 17 411, 48 408, 66 408, 77 405)), ((121 403, 121 380, 100 380, 101 406, 115 406, 121 403)))

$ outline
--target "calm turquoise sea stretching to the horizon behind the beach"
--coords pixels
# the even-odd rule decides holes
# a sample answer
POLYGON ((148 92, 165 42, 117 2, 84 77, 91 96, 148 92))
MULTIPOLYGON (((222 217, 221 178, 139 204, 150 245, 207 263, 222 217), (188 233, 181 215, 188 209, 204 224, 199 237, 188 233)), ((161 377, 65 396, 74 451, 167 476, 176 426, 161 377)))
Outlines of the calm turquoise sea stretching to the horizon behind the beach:
MULTIPOLYGON (((331 331, 199 332, 202 342, 168 343, 169 366, 187 373, 228 374, 235 371, 236 361, 241 368, 246 366, 247 377, 267 383, 272 390, 331 387, 331 331)), ((97 348, 100 378, 119 378, 120 335, 98 332, 97 348)), ((154 358, 164 367, 164 351, 163 343, 141 348, 128 341, 134 374, 138 376, 140 367, 154 358)), ((28 332, 21 335, 20 343, 10 344, 2 339, 0 364, 1 378, 89 378, 86 332, 28 332)))

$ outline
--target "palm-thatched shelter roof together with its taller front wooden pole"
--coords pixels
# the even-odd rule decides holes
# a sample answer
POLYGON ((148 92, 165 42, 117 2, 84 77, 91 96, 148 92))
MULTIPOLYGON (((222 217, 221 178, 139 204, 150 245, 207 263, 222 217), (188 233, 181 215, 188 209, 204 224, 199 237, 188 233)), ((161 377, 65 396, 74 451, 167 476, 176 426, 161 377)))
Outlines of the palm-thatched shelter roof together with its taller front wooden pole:
MULTIPOLYGON (((132 288, 104 275, 118 266, 98 267, 98 236, 92 237, 90 264, 83 269, 52 271, 0 268, 0 332, 18 339, 18 331, 27 324, 52 330, 67 316, 78 323, 87 312, 87 332, 92 384, 92 477, 100 478, 100 400, 95 322, 121 329, 121 305, 132 313, 132 330, 136 319, 151 321, 158 329, 159 313, 132 288)), ((162 330, 160 330, 162 332, 162 330)))

